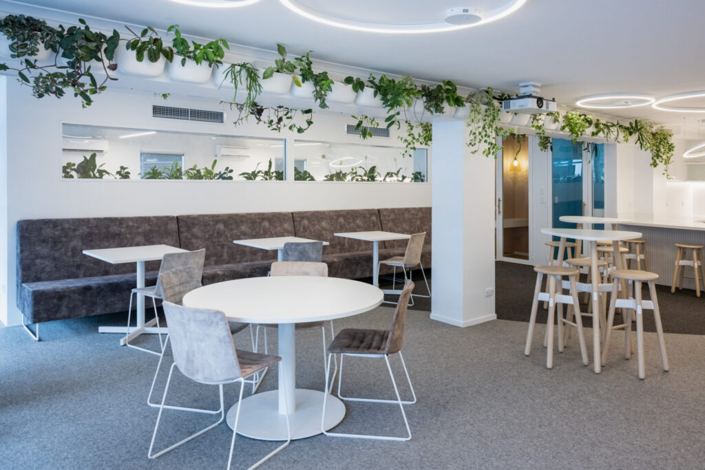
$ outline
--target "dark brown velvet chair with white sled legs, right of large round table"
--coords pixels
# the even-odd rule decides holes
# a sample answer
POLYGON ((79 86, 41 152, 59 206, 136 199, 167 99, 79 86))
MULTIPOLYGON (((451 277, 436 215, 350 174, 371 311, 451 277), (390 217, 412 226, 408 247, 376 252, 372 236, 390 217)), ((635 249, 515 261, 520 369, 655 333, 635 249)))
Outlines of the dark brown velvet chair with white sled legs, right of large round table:
POLYGON ((404 341, 404 323, 406 321, 407 307, 409 305, 409 299, 411 297, 411 292, 414 290, 414 283, 411 280, 406 281, 404 284, 404 289, 399 296, 399 302, 397 303, 396 309, 394 310, 394 315, 392 317, 391 327, 388 330, 365 330, 360 328, 345 328, 342 330, 336 338, 333 339, 331 345, 328 347, 328 361, 326 364, 326 385, 324 390, 331 390, 333 387, 333 379, 331 379, 331 388, 329 388, 329 371, 331 369, 331 357, 335 354, 339 354, 341 357, 341 369, 338 374, 338 397, 341 400, 351 401, 351 402, 374 402, 374 403, 392 403, 398 404, 401 409, 401 414, 404 418, 404 423, 406 425, 407 436, 406 437, 396 437, 396 436, 386 436, 386 435, 369 435, 369 434, 344 434, 344 433, 331 433, 326 431, 324 426, 324 417, 326 416, 326 403, 328 402, 328 393, 324 393, 323 396, 323 413, 321 414, 321 431, 325 435, 331 435, 340 438, 363 438, 363 439, 378 439, 378 440, 410 440, 411 439, 411 428, 409 427, 409 421, 406 419, 406 413, 404 412, 405 404, 416 403, 416 393, 414 392, 414 387, 411 385, 411 379, 409 378, 409 371, 406 368, 406 363, 404 362, 404 357, 401 354, 401 347, 404 341), (392 373, 391 365, 389 364, 389 356, 393 354, 399 354, 399 359, 401 359, 401 364, 404 367, 404 373, 406 375, 406 380, 409 383, 409 388, 411 390, 411 395, 413 400, 403 401, 399 394, 399 389, 397 388, 396 381, 394 379, 394 374, 392 373), (394 385, 394 392, 396 393, 396 400, 378 400, 375 398, 357 398, 357 397, 344 397, 341 394, 341 383, 343 383, 343 357, 366 357, 366 358, 384 358, 387 364, 387 370, 389 372, 389 377, 392 379, 392 385, 394 385))

